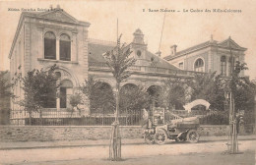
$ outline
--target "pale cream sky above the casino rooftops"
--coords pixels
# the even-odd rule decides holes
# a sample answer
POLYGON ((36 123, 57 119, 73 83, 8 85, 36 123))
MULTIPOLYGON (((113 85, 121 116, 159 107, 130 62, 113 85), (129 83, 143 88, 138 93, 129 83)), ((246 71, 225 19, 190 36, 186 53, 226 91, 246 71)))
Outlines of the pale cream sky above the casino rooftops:
POLYGON ((177 51, 213 38, 222 41, 228 36, 240 46, 246 47, 245 72, 256 79, 256 0, 83 0, 83 1, 1 1, 0 0, 0 70, 9 70, 9 51, 24 9, 49 9, 60 6, 80 21, 91 23, 89 37, 115 41, 118 31, 122 41, 131 42, 133 32, 140 28, 145 34, 148 49, 161 51, 161 57, 170 54, 170 46, 177 51), (8 11, 9 8, 20 11, 8 11), (167 9, 164 12, 160 9, 167 9), (239 10, 239 13, 214 13, 213 9, 239 10), (159 12, 149 12, 159 10, 159 12), (175 10, 171 12, 170 10, 175 10), (196 12, 203 10, 203 12, 196 12), (206 12, 210 10, 211 12, 206 12), (179 11, 179 12, 177 12, 179 11), (187 12, 185 12, 187 11, 187 12))

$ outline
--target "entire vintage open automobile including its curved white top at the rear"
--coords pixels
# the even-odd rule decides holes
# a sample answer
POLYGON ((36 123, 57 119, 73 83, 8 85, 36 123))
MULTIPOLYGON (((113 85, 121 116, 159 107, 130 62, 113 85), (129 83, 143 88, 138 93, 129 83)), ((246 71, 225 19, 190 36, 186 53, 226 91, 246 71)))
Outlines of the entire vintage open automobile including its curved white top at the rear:
POLYGON ((205 110, 208 110, 210 103, 203 99, 194 100, 184 105, 185 117, 178 116, 177 114, 167 111, 164 108, 154 108, 152 120, 150 125, 144 130, 144 139, 147 143, 163 144, 167 139, 175 139, 176 141, 188 141, 197 142, 199 140, 199 134, 197 129, 199 128, 200 115, 191 116, 191 109, 197 105, 205 106, 205 110), (168 115, 168 117, 166 117, 168 115), (169 119, 165 122, 165 119, 169 119), (163 120, 162 124, 158 121, 163 120), (153 124, 154 123, 154 124, 153 124))

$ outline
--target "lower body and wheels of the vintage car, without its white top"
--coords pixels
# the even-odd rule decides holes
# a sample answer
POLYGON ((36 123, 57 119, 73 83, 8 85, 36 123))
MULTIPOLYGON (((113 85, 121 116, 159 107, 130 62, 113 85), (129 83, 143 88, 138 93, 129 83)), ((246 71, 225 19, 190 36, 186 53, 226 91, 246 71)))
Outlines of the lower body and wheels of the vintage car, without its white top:
POLYGON ((144 139, 149 144, 164 144, 167 138, 194 143, 199 140, 198 127, 197 117, 178 118, 161 126, 149 126, 144 130, 144 139))

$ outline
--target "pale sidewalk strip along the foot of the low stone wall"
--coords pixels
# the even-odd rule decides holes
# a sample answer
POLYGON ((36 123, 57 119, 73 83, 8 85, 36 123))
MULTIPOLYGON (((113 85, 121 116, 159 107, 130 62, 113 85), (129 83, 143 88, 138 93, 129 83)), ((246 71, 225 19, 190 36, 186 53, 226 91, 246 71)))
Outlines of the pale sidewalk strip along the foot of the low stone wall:
MULTIPOLYGON (((227 137, 200 137, 201 142, 222 141, 227 137)), ((256 135, 238 136, 238 140, 256 140, 256 135)), ((19 141, 0 142, 0 150, 6 149, 32 149, 32 148, 56 148, 56 147, 82 147, 82 146, 108 146, 109 139, 85 139, 85 140, 58 140, 58 141, 19 141)), ((123 138, 122 144, 145 144, 144 138, 123 138)))

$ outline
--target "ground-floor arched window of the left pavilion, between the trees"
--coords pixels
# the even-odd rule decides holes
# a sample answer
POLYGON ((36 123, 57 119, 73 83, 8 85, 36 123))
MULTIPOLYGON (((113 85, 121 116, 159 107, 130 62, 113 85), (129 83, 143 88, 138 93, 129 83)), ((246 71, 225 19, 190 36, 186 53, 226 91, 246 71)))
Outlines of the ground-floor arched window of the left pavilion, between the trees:
POLYGON ((68 108, 69 106, 69 96, 73 94, 73 83, 68 80, 61 82, 60 86, 60 108, 68 108))

